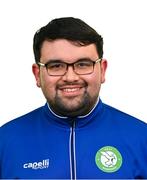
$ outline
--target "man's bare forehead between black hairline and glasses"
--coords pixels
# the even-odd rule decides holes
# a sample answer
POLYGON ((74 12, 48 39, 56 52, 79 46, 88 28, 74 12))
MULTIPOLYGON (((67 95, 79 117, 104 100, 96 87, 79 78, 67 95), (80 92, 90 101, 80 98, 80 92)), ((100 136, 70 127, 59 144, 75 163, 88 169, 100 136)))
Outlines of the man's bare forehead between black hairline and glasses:
POLYGON ((81 46, 76 42, 66 39, 44 41, 41 48, 41 59, 77 59, 97 58, 98 53, 95 44, 81 46))

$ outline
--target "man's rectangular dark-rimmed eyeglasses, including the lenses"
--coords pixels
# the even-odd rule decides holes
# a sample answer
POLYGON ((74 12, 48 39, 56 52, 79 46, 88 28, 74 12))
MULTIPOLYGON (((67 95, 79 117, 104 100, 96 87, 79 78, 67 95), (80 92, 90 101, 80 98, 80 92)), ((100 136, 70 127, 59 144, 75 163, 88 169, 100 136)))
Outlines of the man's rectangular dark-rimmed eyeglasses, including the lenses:
POLYGON ((101 59, 92 61, 90 59, 81 59, 74 63, 65 63, 61 60, 50 60, 47 63, 38 62, 39 66, 45 67, 49 76, 64 76, 68 67, 72 66, 74 72, 78 75, 86 75, 93 73, 94 65, 100 62, 101 59))

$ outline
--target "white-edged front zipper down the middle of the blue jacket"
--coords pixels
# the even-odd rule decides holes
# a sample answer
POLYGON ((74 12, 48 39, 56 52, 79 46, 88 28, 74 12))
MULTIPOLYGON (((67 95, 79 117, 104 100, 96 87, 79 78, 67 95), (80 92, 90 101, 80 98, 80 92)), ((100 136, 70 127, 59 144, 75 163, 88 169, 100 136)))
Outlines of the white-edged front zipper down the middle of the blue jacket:
POLYGON ((75 121, 73 121, 72 126, 70 128, 69 151, 71 180, 76 180, 75 121))

